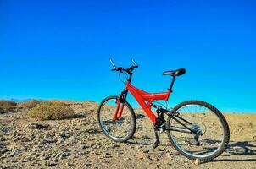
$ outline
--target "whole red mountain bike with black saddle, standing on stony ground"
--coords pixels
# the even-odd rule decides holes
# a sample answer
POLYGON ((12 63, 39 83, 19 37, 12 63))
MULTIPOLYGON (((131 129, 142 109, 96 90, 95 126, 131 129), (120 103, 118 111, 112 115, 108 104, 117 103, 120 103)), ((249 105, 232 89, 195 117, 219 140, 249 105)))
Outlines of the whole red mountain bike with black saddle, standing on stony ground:
POLYGON ((136 116, 126 101, 128 92, 131 92, 153 122, 156 141, 152 149, 160 143, 159 134, 166 132, 175 149, 189 159, 210 161, 225 151, 230 131, 225 117, 214 106, 204 101, 184 101, 169 109, 156 102, 168 101, 175 78, 186 73, 184 68, 164 72, 164 75, 172 76, 170 88, 166 92, 147 93, 131 85, 132 72, 138 68, 134 60, 134 65, 126 69, 116 67, 111 59, 110 62, 113 71, 125 74, 126 86, 120 95, 104 99, 97 111, 99 125, 109 139, 125 142, 135 133, 136 116))

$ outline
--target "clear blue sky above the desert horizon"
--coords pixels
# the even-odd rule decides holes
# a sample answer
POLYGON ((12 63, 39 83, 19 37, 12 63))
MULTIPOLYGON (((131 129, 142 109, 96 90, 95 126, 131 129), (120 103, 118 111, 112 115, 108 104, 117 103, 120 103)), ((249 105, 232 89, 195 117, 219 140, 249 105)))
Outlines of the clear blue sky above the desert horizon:
MULTIPOLYGON (((133 85, 170 85, 170 106, 256 112, 254 1, 0 1, 0 98, 101 101, 124 85, 109 58, 139 63, 133 85)), ((133 106, 134 99, 129 98, 133 106)))

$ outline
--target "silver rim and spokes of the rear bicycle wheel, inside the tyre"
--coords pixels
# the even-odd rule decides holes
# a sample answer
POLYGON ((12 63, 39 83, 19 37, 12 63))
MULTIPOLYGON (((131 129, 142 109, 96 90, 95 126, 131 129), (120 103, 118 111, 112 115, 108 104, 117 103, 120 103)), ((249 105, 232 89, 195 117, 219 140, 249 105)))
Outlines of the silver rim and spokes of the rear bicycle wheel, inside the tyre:
MULTIPOLYGON (((195 158, 205 158, 220 150, 224 144, 224 126, 213 111, 205 106, 190 104, 181 106, 176 112, 192 123, 188 125, 189 128, 198 128, 198 141, 201 144, 197 145, 194 134, 170 131, 170 137, 179 150, 195 158), (199 134, 200 130, 202 135, 199 134)), ((170 128, 184 128, 174 119, 171 119, 170 125, 170 128)))

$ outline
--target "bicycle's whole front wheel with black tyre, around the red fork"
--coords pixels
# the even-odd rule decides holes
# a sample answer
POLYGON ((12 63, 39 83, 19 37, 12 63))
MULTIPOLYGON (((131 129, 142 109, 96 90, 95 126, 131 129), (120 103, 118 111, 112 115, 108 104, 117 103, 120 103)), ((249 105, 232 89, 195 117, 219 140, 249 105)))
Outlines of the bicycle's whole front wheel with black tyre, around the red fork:
POLYGON ((109 96, 97 110, 97 119, 103 133, 117 142, 131 139, 136 130, 136 116, 127 101, 119 101, 118 96, 109 96))

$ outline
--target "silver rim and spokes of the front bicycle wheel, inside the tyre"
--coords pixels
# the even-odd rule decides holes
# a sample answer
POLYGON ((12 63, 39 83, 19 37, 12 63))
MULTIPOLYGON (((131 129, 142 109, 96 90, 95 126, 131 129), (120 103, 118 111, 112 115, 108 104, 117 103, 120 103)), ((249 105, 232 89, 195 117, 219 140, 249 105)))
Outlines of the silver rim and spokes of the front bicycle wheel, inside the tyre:
POLYGON ((116 99, 105 101, 100 109, 100 125, 103 132, 114 140, 121 140, 129 137, 133 124, 129 108, 124 105, 120 119, 113 121, 114 112, 117 108, 116 99))

